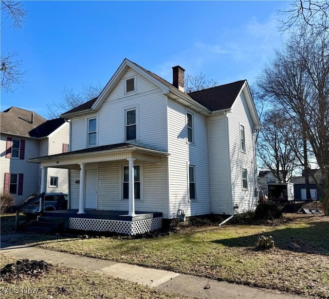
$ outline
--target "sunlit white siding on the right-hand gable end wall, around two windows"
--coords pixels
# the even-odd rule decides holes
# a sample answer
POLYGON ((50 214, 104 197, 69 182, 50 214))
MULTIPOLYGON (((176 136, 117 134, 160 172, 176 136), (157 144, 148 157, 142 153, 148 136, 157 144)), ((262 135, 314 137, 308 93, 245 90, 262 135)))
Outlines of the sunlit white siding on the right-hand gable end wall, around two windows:
POLYGON ((254 189, 257 188, 257 168, 255 165, 255 144, 252 133, 253 122, 243 93, 235 100, 232 112, 228 114, 230 137, 230 161, 232 176, 233 204, 237 212, 253 209, 257 203, 254 189), (240 125, 245 127, 246 152, 240 150, 240 125), (248 190, 242 189, 241 169, 248 171, 248 190))

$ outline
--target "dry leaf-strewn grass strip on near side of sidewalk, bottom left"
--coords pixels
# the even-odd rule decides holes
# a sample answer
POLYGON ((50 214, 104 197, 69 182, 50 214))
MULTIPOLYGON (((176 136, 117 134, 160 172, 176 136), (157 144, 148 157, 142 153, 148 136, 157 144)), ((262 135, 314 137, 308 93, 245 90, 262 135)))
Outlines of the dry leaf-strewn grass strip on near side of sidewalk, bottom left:
MULTIPOLYGON (((16 258, 0 256, 0 266, 13 263, 16 258)), ((11 282, 1 281, 0 294, 2 299, 23 298, 141 298, 170 299, 189 298, 187 296, 157 291, 108 275, 87 272, 62 266, 50 267, 49 271, 38 277, 26 276, 22 280, 11 282)))

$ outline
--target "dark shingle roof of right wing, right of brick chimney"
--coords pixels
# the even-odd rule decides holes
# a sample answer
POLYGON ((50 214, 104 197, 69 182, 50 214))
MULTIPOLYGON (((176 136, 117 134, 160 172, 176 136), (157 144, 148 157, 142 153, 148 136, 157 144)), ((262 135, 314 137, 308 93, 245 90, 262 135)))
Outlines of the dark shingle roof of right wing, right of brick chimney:
POLYGON ((229 109, 246 80, 236 81, 209 89, 189 93, 188 95, 199 104, 211 111, 229 109))

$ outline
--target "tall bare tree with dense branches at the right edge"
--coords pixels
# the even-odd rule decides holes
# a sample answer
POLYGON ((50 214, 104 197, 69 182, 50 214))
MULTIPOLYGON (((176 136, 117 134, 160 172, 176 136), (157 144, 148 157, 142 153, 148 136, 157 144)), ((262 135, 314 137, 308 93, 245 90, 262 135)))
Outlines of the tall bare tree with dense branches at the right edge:
POLYGON ((291 36, 258 80, 263 94, 301 126, 321 169, 323 206, 329 216, 329 37, 309 32, 291 36))

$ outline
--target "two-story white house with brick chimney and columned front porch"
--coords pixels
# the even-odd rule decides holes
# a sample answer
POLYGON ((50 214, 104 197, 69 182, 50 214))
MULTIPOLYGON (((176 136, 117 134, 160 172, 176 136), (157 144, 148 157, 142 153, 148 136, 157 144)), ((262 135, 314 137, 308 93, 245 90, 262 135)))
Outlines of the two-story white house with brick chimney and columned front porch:
POLYGON ((70 152, 29 161, 70 169, 71 228, 101 229, 101 220, 87 221, 89 209, 125 211, 134 221, 140 211, 172 219, 178 210, 255 207, 260 121, 247 81, 186 94, 184 71, 173 67, 171 84, 124 59, 97 98, 62 114, 71 121, 70 152))

